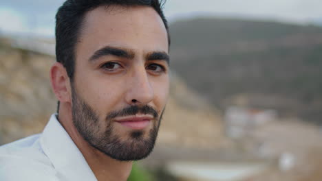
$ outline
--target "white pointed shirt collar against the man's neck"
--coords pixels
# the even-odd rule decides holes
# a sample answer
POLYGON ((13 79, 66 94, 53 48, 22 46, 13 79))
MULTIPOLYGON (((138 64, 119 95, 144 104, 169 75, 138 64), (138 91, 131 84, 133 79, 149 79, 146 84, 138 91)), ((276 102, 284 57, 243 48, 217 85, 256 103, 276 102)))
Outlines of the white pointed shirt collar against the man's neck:
POLYGON ((96 180, 83 154, 52 114, 40 138, 43 152, 48 156, 61 180, 96 180))

